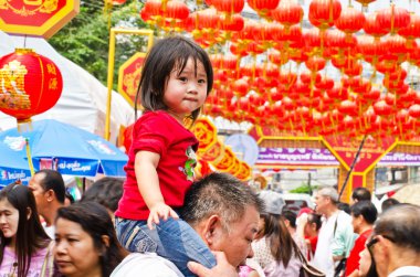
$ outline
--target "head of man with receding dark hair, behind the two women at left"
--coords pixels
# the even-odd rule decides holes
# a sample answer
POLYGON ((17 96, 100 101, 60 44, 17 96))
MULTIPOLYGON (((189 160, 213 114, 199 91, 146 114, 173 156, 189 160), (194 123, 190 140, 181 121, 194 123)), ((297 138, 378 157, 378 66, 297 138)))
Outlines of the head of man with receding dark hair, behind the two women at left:
POLYGON ((36 207, 42 216, 45 216, 45 211, 51 209, 51 204, 64 204, 65 185, 57 171, 38 171, 29 181, 29 188, 35 196, 36 207))

